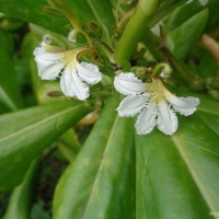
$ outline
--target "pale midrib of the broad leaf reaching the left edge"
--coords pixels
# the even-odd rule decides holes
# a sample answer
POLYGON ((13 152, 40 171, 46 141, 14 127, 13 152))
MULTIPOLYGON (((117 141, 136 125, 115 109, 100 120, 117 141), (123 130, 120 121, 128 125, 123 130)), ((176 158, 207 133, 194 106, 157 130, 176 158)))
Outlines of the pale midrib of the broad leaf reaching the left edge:
POLYGON ((42 125, 42 124, 44 124, 44 123, 46 123, 46 122, 49 122, 49 120, 51 120, 51 119, 54 119, 54 118, 57 118, 57 117, 59 117, 60 115, 66 114, 66 113, 68 113, 68 112, 70 112, 70 111, 72 111, 72 108, 76 108, 76 107, 78 107, 78 106, 70 107, 70 108, 65 110, 65 111, 62 111, 62 112, 60 112, 60 113, 56 113, 56 114, 54 114, 53 116, 46 117, 46 118, 43 119, 43 120, 39 120, 39 122, 37 122, 37 123, 34 123, 34 124, 32 124, 32 125, 30 125, 30 126, 27 126, 27 127, 24 127, 24 128, 18 130, 18 131, 15 131, 15 132, 12 132, 12 134, 10 134, 9 136, 5 136, 5 137, 1 138, 1 139, 0 139, 0 145, 1 145, 3 141, 7 141, 8 139, 10 139, 10 138, 16 137, 18 135, 22 135, 23 132, 26 134, 27 131, 30 131, 30 130, 36 128, 37 126, 39 126, 39 125, 42 125))

